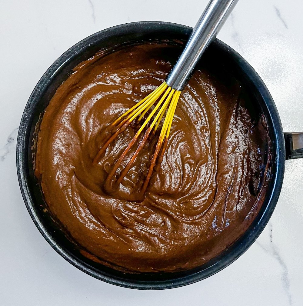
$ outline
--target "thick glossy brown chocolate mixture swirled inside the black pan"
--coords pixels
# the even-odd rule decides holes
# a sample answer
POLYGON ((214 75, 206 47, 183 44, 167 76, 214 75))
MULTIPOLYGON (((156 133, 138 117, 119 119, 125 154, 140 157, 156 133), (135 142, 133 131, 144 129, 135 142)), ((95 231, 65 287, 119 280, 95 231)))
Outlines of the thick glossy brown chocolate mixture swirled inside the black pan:
POLYGON ((103 188, 137 129, 128 126, 93 163, 107 126, 165 80, 179 53, 172 44, 145 43, 96 54, 58 88, 40 126, 35 174, 50 213, 86 256, 120 270, 207 262, 251 224, 270 177, 264 118, 252 118, 249 97, 226 72, 199 67, 181 93, 144 200, 129 199, 156 135, 119 188, 110 195, 103 188))

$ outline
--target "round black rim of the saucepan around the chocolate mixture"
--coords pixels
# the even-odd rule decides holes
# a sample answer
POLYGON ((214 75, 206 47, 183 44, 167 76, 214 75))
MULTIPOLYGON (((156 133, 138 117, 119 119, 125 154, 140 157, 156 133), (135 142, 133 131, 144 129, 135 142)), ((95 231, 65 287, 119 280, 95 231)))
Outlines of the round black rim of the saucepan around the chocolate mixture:
POLYGON ((207 278, 223 268, 227 267, 230 263, 236 260, 239 256, 241 256, 256 240, 256 238, 260 235, 264 227, 266 226, 269 218, 271 217, 272 212, 274 211, 275 205, 278 201, 278 197, 282 187, 282 181, 284 176, 284 167, 285 167, 285 143, 283 137, 283 129, 281 125, 281 121, 279 118, 279 114, 275 103, 266 88, 264 82, 261 80, 260 76, 256 73, 256 71, 249 65, 248 62, 245 61, 244 58, 241 57, 236 51, 227 46, 225 43, 216 39, 215 44, 217 44, 224 52, 231 52, 231 54, 236 57, 237 65, 241 65, 241 69, 243 73, 246 74, 251 80, 253 80, 256 88, 264 103, 266 104, 270 119, 272 129, 275 133, 274 138, 277 143, 277 154, 275 156, 276 170, 274 173, 274 184, 271 191, 270 199, 266 204, 266 210, 264 213, 258 218, 258 221, 254 220, 252 226, 235 242, 237 246, 232 250, 232 252, 228 253, 224 260, 220 260, 198 272, 194 272, 193 274, 186 275, 184 277, 176 278, 176 279, 165 279, 163 281, 137 281, 130 280, 127 278, 118 278, 112 275, 108 275, 107 273, 103 273, 100 270, 96 270, 90 265, 84 263, 83 261, 77 259, 72 253, 68 252, 64 246, 58 244, 52 234, 46 229, 43 224, 43 220, 37 215, 35 210, 35 201, 31 195, 30 187, 28 184, 28 148, 29 148, 29 130, 32 126, 32 111, 33 107, 39 103, 39 97, 41 98, 41 92, 45 91, 45 89, 51 84, 50 77, 53 76, 62 66, 64 66, 70 58, 78 56, 84 47, 90 45, 92 39, 96 39, 105 35, 106 33, 116 32, 117 30, 124 31, 125 33, 130 32, 134 28, 144 28, 145 30, 151 29, 151 31, 165 31, 165 29, 172 29, 174 31, 186 32, 190 33, 192 28, 188 26, 184 26, 181 24, 174 24, 169 22, 162 21, 139 21, 128 24, 121 24, 118 26, 114 26, 111 28, 107 28, 103 31, 97 32, 93 35, 88 36, 87 38, 81 40, 79 43, 75 44, 69 50, 67 50, 64 54, 62 54, 43 74, 35 89, 33 90, 28 102, 26 104, 24 113, 21 118, 20 128, 18 132, 17 138, 17 174, 19 185, 21 189, 21 193, 25 202, 25 205, 28 209, 29 214, 31 215, 35 225, 37 226, 40 233, 46 239, 46 241, 69 263, 73 264, 75 267, 84 271, 85 273, 103 280, 105 282, 119 285, 128 288, 134 289, 168 289, 180 287, 183 285, 188 285, 204 278, 207 278), (256 221, 256 222, 255 222, 256 221))

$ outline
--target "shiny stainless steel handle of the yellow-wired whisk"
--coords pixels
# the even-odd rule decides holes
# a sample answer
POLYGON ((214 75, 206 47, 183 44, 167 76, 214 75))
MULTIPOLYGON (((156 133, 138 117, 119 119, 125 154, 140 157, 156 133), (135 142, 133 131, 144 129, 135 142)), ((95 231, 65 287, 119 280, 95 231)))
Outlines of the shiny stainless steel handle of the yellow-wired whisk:
POLYGON ((168 86, 182 90, 201 55, 215 39, 238 0, 211 0, 195 25, 183 52, 166 78, 168 86))

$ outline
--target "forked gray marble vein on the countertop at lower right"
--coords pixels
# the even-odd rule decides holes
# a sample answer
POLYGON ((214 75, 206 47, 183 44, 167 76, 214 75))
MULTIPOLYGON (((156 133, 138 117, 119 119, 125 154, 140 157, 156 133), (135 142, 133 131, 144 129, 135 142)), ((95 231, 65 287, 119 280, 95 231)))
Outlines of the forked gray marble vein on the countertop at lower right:
MULTIPOLYGON (((270 229, 270 238, 272 237, 271 235, 272 235, 272 225, 271 225, 271 229, 270 229)), ((277 250, 277 248, 275 247, 274 244, 270 244, 270 247, 264 246, 259 241, 256 241, 256 244, 259 245, 260 248, 262 248, 264 252, 271 255, 273 258, 275 258, 278 261, 278 263, 280 264, 280 266, 282 267, 283 272, 282 272, 282 276, 281 276, 281 281, 282 281, 283 289, 284 289, 285 293, 287 294, 289 305, 292 305, 292 296, 291 296, 291 293, 290 293, 290 290, 289 290, 290 289, 290 278, 289 278, 288 267, 287 267, 286 263, 282 259, 281 255, 279 254, 279 252, 278 252, 278 250, 277 250)))

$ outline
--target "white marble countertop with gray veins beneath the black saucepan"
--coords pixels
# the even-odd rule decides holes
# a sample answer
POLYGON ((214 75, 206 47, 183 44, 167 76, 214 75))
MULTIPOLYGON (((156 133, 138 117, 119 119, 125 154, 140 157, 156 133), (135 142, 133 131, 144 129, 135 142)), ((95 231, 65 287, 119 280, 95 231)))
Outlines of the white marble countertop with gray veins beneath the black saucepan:
MULTIPOLYGON (((208 279, 141 291, 101 282, 44 240, 18 185, 16 136, 24 106, 65 50, 132 21, 193 26, 208 0, 4 0, 0 9, 0 305, 302 305, 303 159, 287 161, 277 207, 257 241, 208 279)), ((260 74, 284 131, 303 131, 303 2, 240 0, 219 34, 260 74), (290 5, 291 3, 291 5, 290 5)))

